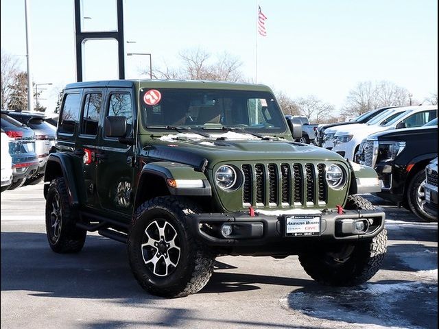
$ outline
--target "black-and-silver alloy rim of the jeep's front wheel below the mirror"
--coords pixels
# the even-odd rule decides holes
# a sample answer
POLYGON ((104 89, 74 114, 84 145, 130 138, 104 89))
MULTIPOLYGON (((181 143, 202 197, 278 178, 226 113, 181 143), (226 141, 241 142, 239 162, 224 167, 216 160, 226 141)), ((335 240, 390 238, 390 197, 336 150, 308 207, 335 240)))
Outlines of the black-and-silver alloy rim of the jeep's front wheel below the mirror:
POLYGON ((143 262, 156 276, 169 276, 180 260, 180 239, 174 226, 165 219, 152 221, 141 243, 143 262))

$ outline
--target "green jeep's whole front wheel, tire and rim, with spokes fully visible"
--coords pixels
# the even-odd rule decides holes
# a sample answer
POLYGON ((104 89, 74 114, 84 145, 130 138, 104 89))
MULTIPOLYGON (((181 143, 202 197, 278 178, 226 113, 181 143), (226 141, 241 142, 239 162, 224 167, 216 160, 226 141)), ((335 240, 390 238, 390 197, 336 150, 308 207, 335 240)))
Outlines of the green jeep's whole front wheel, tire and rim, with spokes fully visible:
POLYGON ((128 233, 130 267, 146 291, 183 297, 209 282, 215 255, 193 236, 187 215, 196 204, 178 197, 156 197, 142 204, 128 233))

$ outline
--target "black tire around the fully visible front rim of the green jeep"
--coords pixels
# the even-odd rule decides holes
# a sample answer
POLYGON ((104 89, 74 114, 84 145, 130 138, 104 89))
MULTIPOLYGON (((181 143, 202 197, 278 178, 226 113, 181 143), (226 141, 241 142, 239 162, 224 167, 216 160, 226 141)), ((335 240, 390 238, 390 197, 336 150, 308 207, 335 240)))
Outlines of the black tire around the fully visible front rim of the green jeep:
POLYGON ((187 215, 200 212, 190 200, 171 196, 156 197, 139 206, 128 232, 128 257, 134 277, 143 289, 163 297, 184 297, 197 293, 209 282, 215 254, 195 239, 187 222, 187 215), (141 249, 143 234, 156 219, 171 223, 180 241, 177 266, 164 277, 148 269, 141 249))

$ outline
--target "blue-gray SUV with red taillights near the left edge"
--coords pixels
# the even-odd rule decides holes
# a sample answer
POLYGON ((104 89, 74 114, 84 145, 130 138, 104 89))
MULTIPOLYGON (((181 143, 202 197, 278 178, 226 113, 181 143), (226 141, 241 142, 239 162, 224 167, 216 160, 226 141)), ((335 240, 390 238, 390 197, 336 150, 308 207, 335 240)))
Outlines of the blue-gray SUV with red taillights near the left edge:
POLYGON ((1 111, 1 129, 10 138, 9 153, 12 157, 12 184, 9 190, 13 190, 24 184, 27 177, 31 177, 38 171, 38 158, 35 153, 34 132, 9 117, 7 112, 1 111))

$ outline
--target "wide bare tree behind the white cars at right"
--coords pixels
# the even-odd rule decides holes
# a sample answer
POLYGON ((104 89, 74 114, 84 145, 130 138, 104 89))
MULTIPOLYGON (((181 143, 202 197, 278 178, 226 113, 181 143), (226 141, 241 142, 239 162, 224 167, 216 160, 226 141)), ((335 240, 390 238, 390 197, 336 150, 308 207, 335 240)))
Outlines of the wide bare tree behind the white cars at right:
POLYGON ((393 82, 359 82, 349 90, 342 114, 351 117, 383 106, 405 106, 410 104, 410 93, 393 82))

